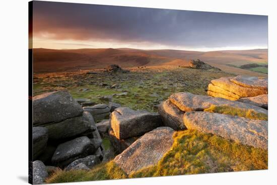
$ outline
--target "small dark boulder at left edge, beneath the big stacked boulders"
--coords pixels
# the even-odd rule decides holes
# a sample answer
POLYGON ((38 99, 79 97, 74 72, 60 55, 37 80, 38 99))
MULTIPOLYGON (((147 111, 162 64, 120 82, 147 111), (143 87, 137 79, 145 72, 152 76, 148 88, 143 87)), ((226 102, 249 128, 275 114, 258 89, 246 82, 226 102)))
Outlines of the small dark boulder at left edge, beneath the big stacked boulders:
POLYGON ((33 157, 37 157, 45 150, 48 141, 48 129, 33 127, 33 157))

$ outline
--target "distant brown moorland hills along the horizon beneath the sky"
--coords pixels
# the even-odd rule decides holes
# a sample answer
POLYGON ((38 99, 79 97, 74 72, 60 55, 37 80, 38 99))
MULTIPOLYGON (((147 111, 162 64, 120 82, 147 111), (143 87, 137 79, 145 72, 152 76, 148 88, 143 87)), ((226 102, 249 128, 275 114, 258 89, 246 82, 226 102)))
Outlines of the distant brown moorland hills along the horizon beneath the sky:
POLYGON ((249 63, 267 64, 267 49, 229 51, 141 50, 131 48, 101 49, 33 49, 34 72, 75 71, 104 68, 109 64, 121 67, 186 65, 191 59, 200 59, 227 72, 249 63))

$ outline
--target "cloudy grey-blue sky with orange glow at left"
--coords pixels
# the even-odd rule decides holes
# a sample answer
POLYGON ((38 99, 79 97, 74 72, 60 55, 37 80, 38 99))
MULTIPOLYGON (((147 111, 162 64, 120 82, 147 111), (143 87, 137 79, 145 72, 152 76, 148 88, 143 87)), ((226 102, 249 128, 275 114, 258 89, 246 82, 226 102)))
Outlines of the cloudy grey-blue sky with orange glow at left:
POLYGON ((267 16, 33 2, 33 48, 267 48, 267 16))

